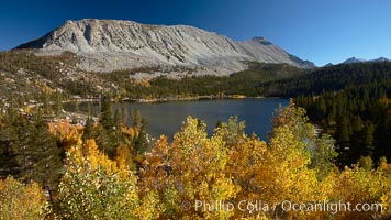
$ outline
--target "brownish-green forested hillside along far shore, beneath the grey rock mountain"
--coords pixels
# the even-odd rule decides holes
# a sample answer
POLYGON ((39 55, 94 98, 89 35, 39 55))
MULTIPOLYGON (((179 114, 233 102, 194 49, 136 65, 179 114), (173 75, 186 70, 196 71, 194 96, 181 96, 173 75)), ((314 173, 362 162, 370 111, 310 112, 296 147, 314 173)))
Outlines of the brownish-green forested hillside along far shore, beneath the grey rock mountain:
POLYGON ((185 67, 150 66, 112 73, 85 72, 77 67, 79 57, 70 52, 60 56, 36 56, 30 51, 0 53, 0 105, 12 102, 58 102, 70 98, 152 99, 224 95, 261 96, 259 85, 265 81, 299 76, 303 69, 288 64, 246 63, 248 70, 232 76, 193 76, 174 79, 170 72, 186 72, 185 67), (137 78, 137 73, 163 76, 149 80, 137 78))

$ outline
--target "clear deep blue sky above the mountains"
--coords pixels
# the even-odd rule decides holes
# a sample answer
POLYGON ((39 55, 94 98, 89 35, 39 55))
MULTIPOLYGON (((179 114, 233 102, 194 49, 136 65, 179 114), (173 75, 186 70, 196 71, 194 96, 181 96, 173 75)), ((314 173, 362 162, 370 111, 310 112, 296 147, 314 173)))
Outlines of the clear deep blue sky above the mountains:
POLYGON ((239 41, 264 36, 317 66, 391 58, 389 0, 1 1, 0 51, 87 18, 188 24, 239 41))

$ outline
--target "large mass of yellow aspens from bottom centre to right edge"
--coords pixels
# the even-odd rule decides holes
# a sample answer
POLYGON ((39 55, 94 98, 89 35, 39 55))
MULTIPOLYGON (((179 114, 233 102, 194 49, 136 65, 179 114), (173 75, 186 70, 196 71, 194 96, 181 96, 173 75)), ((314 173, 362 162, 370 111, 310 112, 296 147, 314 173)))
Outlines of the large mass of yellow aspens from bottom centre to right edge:
POLYGON ((390 185, 381 173, 333 168, 334 141, 315 136, 305 112, 294 103, 279 113, 269 144, 247 136, 244 123, 235 118, 209 138, 205 124, 189 117, 172 142, 161 136, 147 153, 139 170, 142 198, 154 198, 156 204, 149 209, 159 210, 161 219, 368 219, 387 215, 390 185), (241 201, 262 201, 268 207, 238 210, 241 201), (320 208, 339 201, 379 201, 386 211, 320 208), (224 202, 233 209, 220 206, 224 202), (306 205, 310 210, 287 210, 284 202, 306 205))

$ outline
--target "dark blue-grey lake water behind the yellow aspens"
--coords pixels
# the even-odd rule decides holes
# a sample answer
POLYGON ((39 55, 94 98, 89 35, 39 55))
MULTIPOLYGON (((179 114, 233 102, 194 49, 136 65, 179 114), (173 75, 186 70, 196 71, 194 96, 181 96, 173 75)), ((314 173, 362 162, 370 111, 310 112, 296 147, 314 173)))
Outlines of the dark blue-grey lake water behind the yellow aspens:
MULTIPOLYGON (((231 116, 237 116, 245 121, 246 133, 255 132, 266 140, 267 132, 271 129, 271 117, 279 105, 289 105, 288 99, 225 99, 201 101, 172 101, 164 103, 113 103, 113 110, 123 109, 124 105, 130 111, 138 109, 142 117, 147 121, 147 132, 154 136, 167 134, 170 138, 180 130, 182 122, 188 116, 203 120, 208 125, 208 133, 212 134, 217 121, 227 121, 231 116)), ((93 111, 99 111, 99 103, 91 106, 93 111)), ((86 103, 79 106, 86 110, 86 103)), ((114 111, 113 111, 114 112, 114 111)))

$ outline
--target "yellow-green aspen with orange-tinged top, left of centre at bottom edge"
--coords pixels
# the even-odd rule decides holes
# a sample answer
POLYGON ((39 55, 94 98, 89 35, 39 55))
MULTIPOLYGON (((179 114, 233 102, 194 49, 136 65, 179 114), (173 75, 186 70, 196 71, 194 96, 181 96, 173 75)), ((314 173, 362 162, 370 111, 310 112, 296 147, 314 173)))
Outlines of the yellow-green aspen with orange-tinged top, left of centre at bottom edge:
POLYGON ((137 177, 98 150, 93 140, 66 154, 58 201, 67 219, 133 219, 139 200, 137 177))

